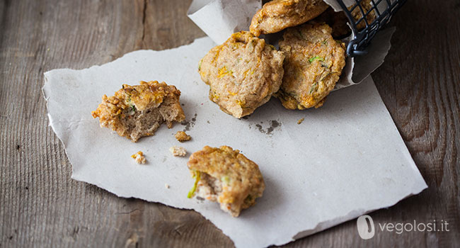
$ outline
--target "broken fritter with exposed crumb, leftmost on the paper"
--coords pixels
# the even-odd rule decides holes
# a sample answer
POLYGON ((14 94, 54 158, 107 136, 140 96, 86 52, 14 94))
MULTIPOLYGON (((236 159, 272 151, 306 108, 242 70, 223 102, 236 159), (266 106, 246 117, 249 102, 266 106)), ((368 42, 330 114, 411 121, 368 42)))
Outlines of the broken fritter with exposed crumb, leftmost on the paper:
POLYGON ((166 122, 171 128, 173 121, 185 119, 179 103, 180 91, 165 82, 141 81, 140 85, 123 84, 115 96, 102 97, 96 111, 101 128, 111 128, 118 135, 133 142, 140 137, 154 135, 155 130, 166 122))

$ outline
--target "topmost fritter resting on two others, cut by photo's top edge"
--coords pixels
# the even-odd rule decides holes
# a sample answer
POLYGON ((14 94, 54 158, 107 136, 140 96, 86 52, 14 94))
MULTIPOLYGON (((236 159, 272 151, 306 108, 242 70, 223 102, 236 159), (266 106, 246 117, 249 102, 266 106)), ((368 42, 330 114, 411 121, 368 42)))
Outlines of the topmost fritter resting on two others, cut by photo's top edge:
POLYGON ((328 9, 323 0, 273 0, 264 4, 251 21, 251 33, 277 33, 309 21, 328 9))

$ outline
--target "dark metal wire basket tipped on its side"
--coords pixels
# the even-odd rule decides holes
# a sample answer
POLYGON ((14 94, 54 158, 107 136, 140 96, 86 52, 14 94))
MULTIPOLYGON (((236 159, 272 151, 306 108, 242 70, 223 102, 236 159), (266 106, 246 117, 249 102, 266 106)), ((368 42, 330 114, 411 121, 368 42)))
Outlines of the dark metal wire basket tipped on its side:
POLYGON ((347 8, 343 0, 337 0, 347 16, 353 32, 353 38, 347 45, 347 55, 355 57, 367 53, 366 47, 374 35, 390 20, 391 16, 398 11, 406 0, 371 0, 372 8, 365 10, 362 6, 364 0, 355 0, 356 4, 347 8), (360 9, 361 18, 355 20, 352 11, 360 9), (375 15, 374 21, 368 23, 368 16, 375 15), (364 22, 365 28, 360 30, 357 26, 364 22))

